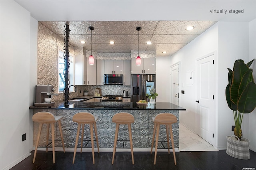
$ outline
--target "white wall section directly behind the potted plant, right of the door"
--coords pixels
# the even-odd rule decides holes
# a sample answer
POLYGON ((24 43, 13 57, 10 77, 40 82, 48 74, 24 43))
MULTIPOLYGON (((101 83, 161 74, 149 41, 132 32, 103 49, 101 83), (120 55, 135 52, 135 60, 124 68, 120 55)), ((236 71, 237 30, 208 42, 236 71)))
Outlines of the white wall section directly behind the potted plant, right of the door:
MULTIPOLYGON (((233 112, 226 102, 225 89, 228 84, 228 67, 233 68, 236 59, 249 61, 248 22, 218 22, 218 149, 226 149, 226 136, 234 134, 233 112)), ((246 121, 244 115, 244 120, 246 121)), ((247 128, 241 127, 243 133, 247 128)))

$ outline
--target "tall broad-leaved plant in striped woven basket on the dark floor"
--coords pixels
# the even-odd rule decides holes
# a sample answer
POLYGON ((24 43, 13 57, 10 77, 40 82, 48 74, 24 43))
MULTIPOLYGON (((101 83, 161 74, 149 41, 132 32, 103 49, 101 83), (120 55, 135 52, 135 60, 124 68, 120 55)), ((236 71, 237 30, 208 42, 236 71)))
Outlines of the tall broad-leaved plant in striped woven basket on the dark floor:
POLYGON ((249 140, 242 138, 242 120, 244 113, 251 113, 256 107, 256 84, 252 77, 250 65, 243 60, 236 60, 233 70, 228 68, 228 85, 226 87, 226 101, 233 111, 235 128, 234 136, 227 136, 227 151, 230 156, 239 159, 250 159, 249 140))

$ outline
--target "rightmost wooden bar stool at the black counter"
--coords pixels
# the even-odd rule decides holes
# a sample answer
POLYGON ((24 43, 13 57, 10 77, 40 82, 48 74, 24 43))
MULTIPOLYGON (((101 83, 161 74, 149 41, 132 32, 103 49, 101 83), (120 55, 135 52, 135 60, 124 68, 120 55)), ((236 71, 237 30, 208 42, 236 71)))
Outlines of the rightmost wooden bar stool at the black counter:
POLYGON ((152 153, 155 134, 156 134, 156 146, 155 146, 156 148, 155 148, 154 165, 156 164, 156 153, 157 153, 158 136, 159 136, 160 125, 165 125, 166 126, 168 154, 170 154, 169 136, 168 136, 168 129, 170 128, 170 135, 171 135, 171 141, 172 141, 172 152, 173 152, 174 164, 176 165, 176 156, 175 156, 173 134, 172 134, 172 124, 177 122, 177 117, 172 115, 171 113, 160 113, 160 114, 156 115, 156 117, 152 117, 152 119, 153 119, 153 122, 154 122, 154 132, 153 132, 153 138, 152 138, 152 145, 151 145, 151 152, 150 153, 152 153))

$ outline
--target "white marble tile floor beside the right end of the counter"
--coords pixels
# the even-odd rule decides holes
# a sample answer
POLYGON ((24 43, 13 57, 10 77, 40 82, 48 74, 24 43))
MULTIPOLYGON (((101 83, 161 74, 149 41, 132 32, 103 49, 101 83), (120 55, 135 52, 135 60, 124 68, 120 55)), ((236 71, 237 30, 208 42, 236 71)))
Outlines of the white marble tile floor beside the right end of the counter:
POLYGON ((180 151, 218 151, 210 143, 180 123, 180 151))

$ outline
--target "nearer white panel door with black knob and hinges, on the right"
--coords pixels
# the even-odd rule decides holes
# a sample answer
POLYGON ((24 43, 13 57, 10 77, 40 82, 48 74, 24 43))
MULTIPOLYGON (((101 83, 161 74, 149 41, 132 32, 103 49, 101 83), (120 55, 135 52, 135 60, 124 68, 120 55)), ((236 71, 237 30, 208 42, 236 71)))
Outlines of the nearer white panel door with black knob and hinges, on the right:
POLYGON ((215 101, 214 94, 216 71, 215 54, 197 61, 197 134, 212 145, 215 145, 215 101))

